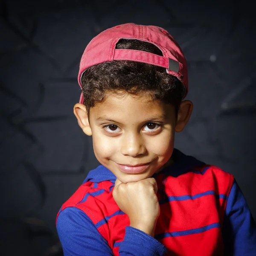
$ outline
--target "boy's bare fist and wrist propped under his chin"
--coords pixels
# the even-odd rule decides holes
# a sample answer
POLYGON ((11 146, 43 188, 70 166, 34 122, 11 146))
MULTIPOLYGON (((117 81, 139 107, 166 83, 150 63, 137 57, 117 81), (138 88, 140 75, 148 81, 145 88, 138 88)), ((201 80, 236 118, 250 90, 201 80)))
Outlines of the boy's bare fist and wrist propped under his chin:
POLYGON ((130 226, 154 237, 155 225, 160 214, 157 199, 157 182, 147 178, 137 182, 121 183, 116 179, 113 198, 130 219, 130 226))

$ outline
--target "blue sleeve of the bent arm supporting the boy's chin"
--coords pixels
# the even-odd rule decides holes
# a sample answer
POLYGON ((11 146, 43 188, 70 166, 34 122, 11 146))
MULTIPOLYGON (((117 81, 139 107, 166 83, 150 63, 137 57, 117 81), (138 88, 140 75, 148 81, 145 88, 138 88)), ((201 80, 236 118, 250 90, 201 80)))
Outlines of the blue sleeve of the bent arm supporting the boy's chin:
MULTIPOLYGON (((108 242, 90 218, 76 207, 68 207, 57 218, 57 232, 64 256, 113 256, 108 242)), ((159 241, 133 227, 126 227, 119 256, 163 256, 166 247, 159 241)))

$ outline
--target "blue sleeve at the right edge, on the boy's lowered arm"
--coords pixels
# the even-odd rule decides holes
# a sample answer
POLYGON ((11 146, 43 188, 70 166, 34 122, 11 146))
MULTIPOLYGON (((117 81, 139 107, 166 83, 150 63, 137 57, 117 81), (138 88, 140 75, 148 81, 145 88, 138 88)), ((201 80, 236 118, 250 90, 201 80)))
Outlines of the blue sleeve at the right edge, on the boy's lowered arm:
POLYGON ((256 224, 236 181, 227 199, 222 234, 224 255, 256 255, 256 224))

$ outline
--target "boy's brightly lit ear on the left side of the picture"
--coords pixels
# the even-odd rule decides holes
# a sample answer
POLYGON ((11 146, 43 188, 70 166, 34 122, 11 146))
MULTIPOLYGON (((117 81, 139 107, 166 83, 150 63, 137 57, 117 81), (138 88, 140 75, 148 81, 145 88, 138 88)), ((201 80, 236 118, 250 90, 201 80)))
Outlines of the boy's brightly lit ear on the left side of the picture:
POLYGON ((87 109, 83 104, 77 103, 74 106, 74 114, 77 118, 78 124, 85 134, 88 136, 92 135, 92 130, 90 128, 89 118, 87 115, 87 109))

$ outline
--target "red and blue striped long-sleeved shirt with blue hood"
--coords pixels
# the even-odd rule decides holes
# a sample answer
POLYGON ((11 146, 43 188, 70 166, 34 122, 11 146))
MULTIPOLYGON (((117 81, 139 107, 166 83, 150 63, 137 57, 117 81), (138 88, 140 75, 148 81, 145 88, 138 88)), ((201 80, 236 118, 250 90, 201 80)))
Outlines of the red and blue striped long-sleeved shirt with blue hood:
POLYGON ((233 175, 174 150, 157 180, 154 238, 129 227, 113 199, 116 177, 104 166, 58 212, 65 256, 256 255, 256 227, 233 175))

